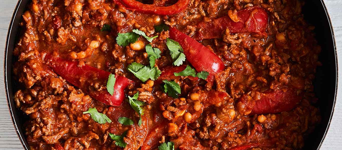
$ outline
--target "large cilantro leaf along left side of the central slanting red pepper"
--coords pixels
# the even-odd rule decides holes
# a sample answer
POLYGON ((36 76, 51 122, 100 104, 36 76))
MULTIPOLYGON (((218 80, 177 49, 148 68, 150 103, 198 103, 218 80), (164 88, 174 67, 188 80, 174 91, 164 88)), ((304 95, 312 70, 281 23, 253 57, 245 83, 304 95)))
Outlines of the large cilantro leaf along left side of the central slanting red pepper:
POLYGON ((185 61, 185 55, 183 53, 183 49, 178 42, 167 38, 166 45, 169 48, 171 58, 173 60, 173 65, 180 66, 185 61))

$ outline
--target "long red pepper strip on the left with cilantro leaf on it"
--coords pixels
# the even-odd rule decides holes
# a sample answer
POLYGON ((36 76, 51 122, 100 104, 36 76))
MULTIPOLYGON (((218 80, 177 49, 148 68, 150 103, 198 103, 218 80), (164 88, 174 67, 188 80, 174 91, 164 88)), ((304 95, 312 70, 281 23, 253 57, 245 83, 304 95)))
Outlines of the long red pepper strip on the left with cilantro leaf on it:
POLYGON ((134 83, 126 77, 115 75, 116 81, 114 85, 113 96, 106 89, 101 91, 94 90, 90 84, 95 82, 107 83, 110 72, 97 69, 95 67, 84 65, 79 67, 78 62, 64 60, 59 57, 45 56, 45 61, 49 62, 49 66, 62 78, 88 93, 102 103, 120 106, 125 98, 124 90, 129 85, 134 83))

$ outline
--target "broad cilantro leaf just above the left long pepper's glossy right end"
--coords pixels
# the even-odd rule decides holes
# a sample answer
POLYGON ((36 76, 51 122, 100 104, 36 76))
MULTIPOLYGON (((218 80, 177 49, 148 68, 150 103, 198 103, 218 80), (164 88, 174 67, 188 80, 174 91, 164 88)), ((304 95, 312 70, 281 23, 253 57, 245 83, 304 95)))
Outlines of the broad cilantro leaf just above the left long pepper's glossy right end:
POLYGON ((157 80, 161 71, 156 67, 147 67, 139 63, 132 63, 128 65, 127 69, 131 71, 134 76, 141 81, 145 82, 148 79, 157 80))

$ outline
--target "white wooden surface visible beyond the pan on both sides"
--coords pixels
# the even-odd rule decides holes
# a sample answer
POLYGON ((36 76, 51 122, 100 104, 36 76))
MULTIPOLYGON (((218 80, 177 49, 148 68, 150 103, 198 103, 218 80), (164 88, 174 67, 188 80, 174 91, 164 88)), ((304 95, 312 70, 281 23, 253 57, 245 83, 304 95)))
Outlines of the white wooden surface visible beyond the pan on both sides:
MULTIPOLYGON (((342 64, 342 0, 324 0, 334 27, 339 64, 342 64)), ((0 150, 24 149, 15 133, 5 98, 3 79, 3 54, 9 22, 16 0, 0 0, 0 150)), ((333 119, 321 150, 342 150, 342 69, 333 119)))

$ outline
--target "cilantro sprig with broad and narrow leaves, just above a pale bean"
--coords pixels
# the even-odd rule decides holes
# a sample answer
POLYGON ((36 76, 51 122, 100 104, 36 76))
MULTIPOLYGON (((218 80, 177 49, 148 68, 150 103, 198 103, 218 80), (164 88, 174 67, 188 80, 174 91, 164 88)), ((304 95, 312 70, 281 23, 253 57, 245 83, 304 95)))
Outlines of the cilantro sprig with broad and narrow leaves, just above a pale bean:
POLYGON ((116 43, 118 43, 118 45, 120 46, 127 46, 130 43, 136 42, 140 36, 143 36, 149 42, 152 42, 153 39, 158 37, 148 37, 146 36, 145 32, 138 29, 134 29, 132 32, 118 33, 118 37, 116 37, 116 43))

